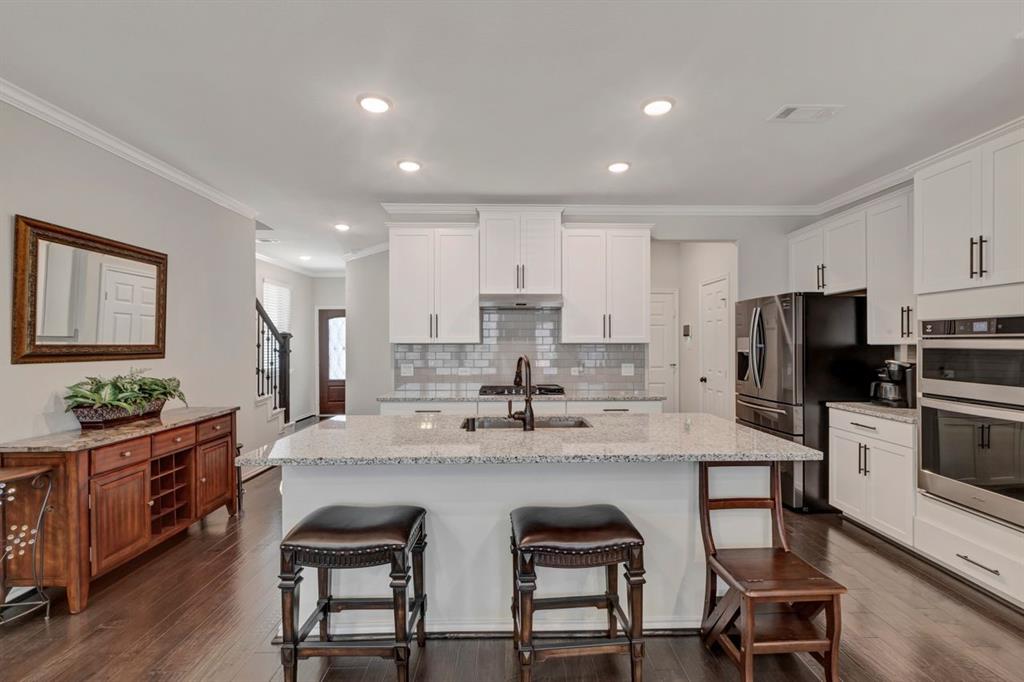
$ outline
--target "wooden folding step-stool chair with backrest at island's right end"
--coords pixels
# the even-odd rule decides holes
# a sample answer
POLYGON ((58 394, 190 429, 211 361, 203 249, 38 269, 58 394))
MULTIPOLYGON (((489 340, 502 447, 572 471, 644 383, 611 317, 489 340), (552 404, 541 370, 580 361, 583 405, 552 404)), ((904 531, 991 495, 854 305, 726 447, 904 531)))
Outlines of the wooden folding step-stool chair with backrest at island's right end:
POLYGON ((839 680, 840 596, 846 588, 790 551, 782 524, 777 462, 700 464, 700 535, 708 560, 700 637, 708 648, 721 644, 739 668, 743 682, 754 679, 754 656, 807 651, 824 667, 825 680, 839 680), (709 498, 711 467, 769 466, 767 498, 709 498), (767 509, 772 546, 718 549, 711 512, 720 509, 767 509), (718 599, 718 579, 729 590, 718 599), (825 612, 824 631, 813 619, 825 612))

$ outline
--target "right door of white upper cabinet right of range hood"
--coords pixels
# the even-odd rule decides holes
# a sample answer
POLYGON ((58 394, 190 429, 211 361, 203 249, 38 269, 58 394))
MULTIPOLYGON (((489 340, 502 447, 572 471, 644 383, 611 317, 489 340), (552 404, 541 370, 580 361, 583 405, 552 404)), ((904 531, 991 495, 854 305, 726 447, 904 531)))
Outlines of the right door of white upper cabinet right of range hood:
POLYGON ((614 343, 650 341, 650 232, 608 230, 607 338, 614 343))

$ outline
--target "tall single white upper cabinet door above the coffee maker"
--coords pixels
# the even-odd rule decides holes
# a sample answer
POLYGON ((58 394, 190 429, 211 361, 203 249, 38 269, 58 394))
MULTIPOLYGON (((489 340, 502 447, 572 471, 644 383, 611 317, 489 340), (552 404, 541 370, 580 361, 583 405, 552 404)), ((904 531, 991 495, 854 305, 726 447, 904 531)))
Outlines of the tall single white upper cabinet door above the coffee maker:
POLYGON ((867 342, 879 345, 916 343, 909 197, 897 197, 869 207, 866 224, 869 254, 866 264, 867 342), (910 308, 909 313, 907 308, 910 308))

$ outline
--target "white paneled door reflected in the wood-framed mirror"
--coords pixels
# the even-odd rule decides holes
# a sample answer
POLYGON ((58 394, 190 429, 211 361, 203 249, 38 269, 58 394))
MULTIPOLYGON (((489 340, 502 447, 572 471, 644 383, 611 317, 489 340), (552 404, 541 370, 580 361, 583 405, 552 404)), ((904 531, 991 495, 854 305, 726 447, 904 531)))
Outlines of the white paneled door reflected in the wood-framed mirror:
POLYGON ((155 343, 157 280, 103 265, 99 343, 155 343))

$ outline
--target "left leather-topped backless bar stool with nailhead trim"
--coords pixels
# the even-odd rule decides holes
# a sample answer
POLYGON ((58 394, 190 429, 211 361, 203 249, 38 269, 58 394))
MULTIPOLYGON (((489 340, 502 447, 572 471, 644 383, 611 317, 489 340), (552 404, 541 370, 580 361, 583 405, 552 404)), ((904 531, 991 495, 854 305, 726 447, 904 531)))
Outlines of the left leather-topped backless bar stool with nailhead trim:
MULTIPOLYGON (((424 615, 427 595, 423 583, 426 549, 420 507, 322 507, 299 521, 281 543, 281 611, 283 635, 281 662, 285 681, 295 682, 300 658, 312 656, 380 656, 394 658, 398 682, 409 680, 410 646, 426 644, 424 615), (407 588, 412 556, 414 598, 410 608, 407 588), (391 565, 390 598, 342 598, 331 595, 331 571, 343 568, 391 565), (316 568, 316 610, 299 626, 299 585, 302 568, 316 568), (394 639, 367 635, 360 639, 330 634, 331 613, 348 610, 393 610, 394 639), (319 638, 306 641, 319 625, 319 638)), ((390 634, 390 633, 388 633, 390 634)), ((386 636, 386 635, 384 635, 386 636)))

